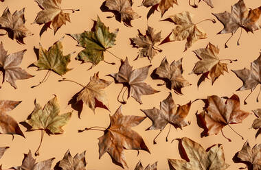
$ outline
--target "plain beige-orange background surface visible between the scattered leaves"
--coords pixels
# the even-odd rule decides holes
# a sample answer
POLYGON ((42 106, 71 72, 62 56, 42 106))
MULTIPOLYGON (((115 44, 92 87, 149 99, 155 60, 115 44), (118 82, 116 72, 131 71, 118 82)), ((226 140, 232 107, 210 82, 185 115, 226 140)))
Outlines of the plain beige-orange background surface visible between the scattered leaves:
MULTIPOLYGON (((209 8, 204 2, 199 3, 198 8, 194 9, 188 5, 188 0, 179 1, 179 5, 174 5, 174 8, 170 8, 168 12, 163 16, 165 19, 168 15, 175 14, 177 12, 182 12, 184 10, 189 10, 194 14, 194 23, 201 21, 203 19, 214 18, 211 14, 212 12, 224 12, 225 10, 230 12, 231 5, 236 3, 237 0, 213 0, 214 9, 209 8)), ((245 0, 248 8, 257 8, 260 3, 259 1, 251 1, 245 0)), ((150 64, 147 58, 139 59, 133 61, 136 58, 138 49, 134 49, 130 45, 130 40, 128 38, 133 38, 137 35, 137 29, 140 29, 142 33, 146 31, 146 14, 148 9, 145 7, 138 7, 141 4, 141 0, 135 0, 133 4, 133 9, 142 16, 140 19, 135 19, 132 21, 133 27, 126 27, 123 23, 119 23, 115 21, 115 19, 106 19, 106 16, 112 16, 113 14, 109 12, 101 12, 100 5, 102 4, 102 0, 98 1, 86 1, 86 0, 63 0, 63 8, 80 8, 80 12, 75 12, 71 14, 71 23, 67 23, 67 25, 63 25, 60 30, 58 30, 57 34, 54 36, 54 32, 52 29, 48 29, 47 32, 43 34, 41 38, 39 38, 38 34, 41 30, 41 26, 36 24, 31 24, 34 22, 37 12, 41 9, 33 0, 6 0, 4 3, 0 5, 0 13, 2 14, 3 10, 9 6, 10 11, 14 12, 15 10, 20 10, 25 7, 25 19, 26 19, 26 27, 30 29, 34 36, 30 36, 25 38, 25 45, 19 45, 15 40, 11 40, 8 36, 1 36, 0 40, 3 41, 3 45, 8 53, 14 53, 16 51, 27 49, 25 53, 23 62, 21 67, 26 69, 27 66, 32 64, 32 62, 36 61, 36 56, 33 51, 33 47, 38 47, 38 43, 41 42, 43 47, 50 47, 56 40, 65 36, 65 33, 80 33, 84 30, 91 29, 93 25, 93 19, 97 19, 97 15, 100 16, 100 19, 105 23, 105 25, 109 26, 111 31, 119 28, 120 32, 117 35, 117 45, 110 49, 112 53, 119 56, 120 58, 125 58, 128 56, 131 64, 134 68, 139 68, 141 66, 146 66, 150 64)), ((161 20, 161 16, 159 12, 155 12, 150 19, 148 20, 148 25, 151 27, 155 27, 158 31, 162 31, 162 37, 165 38, 172 30, 174 25, 168 22, 159 22, 161 20)), ((249 94, 249 90, 236 92, 242 82, 236 77, 234 73, 230 71, 230 69, 243 69, 244 67, 250 68, 251 61, 255 60, 259 56, 260 52, 260 36, 261 31, 256 31, 254 34, 247 34, 245 31, 242 32, 242 38, 240 40, 240 46, 236 45, 236 40, 239 36, 239 30, 236 32, 234 38, 231 38, 228 43, 229 48, 224 48, 224 43, 229 38, 230 34, 216 35, 219 32, 223 25, 219 22, 216 24, 211 23, 210 21, 206 21, 200 24, 205 32, 207 32, 208 38, 204 40, 198 40, 198 42, 194 43, 194 45, 183 53, 183 49, 185 48, 185 41, 183 42, 170 42, 164 45, 159 46, 163 49, 162 53, 159 53, 155 56, 155 59, 152 60, 152 67, 150 68, 148 78, 146 82, 150 84, 157 90, 160 90, 160 93, 156 93, 155 95, 147 95, 142 97, 142 101, 144 104, 139 105, 133 98, 128 99, 128 103, 123 106, 123 114, 133 114, 144 116, 144 114, 139 109, 148 109, 152 107, 159 108, 159 102, 163 99, 166 99, 170 90, 166 88, 166 86, 157 86, 157 84, 161 83, 161 80, 152 80, 150 77, 150 73, 159 66, 161 60, 164 56, 168 58, 168 62, 172 62, 173 60, 179 60, 179 58, 183 58, 183 68, 184 73, 183 76, 187 79, 192 86, 183 88, 184 95, 176 95, 173 93, 174 101, 176 104, 186 104, 190 100, 194 100, 197 98, 205 98, 207 95, 218 95, 218 96, 231 96, 234 93, 240 96, 241 104, 243 99, 249 94), (199 76, 189 75, 191 73, 194 63, 198 61, 192 50, 203 48, 207 45, 208 42, 212 42, 214 45, 218 45, 220 47, 220 59, 238 59, 238 62, 234 62, 233 64, 229 64, 229 73, 225 73, 216 80, 213 86, 211 86, 211 82, 206 80, 201 84, 199 88, 196 87, 196 82, 198 81, 199 76)), ((1 33, 5 33, 0 31, 1 33)), ((71 53, 76 51, 77 53, 82 49, 81 47, 76 47, 76 41, 73 40, 69 36, 65 36, 63 40, 64 45, 64 54, 71 53)), ((98 66, 95 66, 90 71, 89 66, 91 64, 80 64, 79 61, 74 60, 73 58, 76 56, 74 54, 71 56, 71 62, 69 63, 69 68, 73 68, 72 71, 69 71, 64 77, 67 77, 71 80, 75 80, 81 84, 87 84, 89 82, 89 77, 100 71, 100 77, 106 80, 113 79, 111 77, 105 77, 109 73, 116 73, 120 66, 120 61, 113 58, 110 53, 105 53, 105 60, 109 62, 116 62, 115 66, 110 64, 106 64, 105 62, 100 62, 98 66)), ((49 77, 49 80, 38 86, 37 88, 30 88, 30 86, 38 84, 39 81, 43 79, 43 76, 47 71, 36 71, 36 68, 26 69, 28 73, 32 75, 36 75, 28 80, 19 80, 16 82, 18 89, 12 88, 10 84, 5 82, 0 90, 0 98, 1 99, 10 99, 16 101, 23 101, 17 108, 12 110, 9 114, 16 119, 16 121, 24 121, 27 116, 34 109, 34 99, 38 99, 38 101, 45 105, 49 99, 51 99, 53 94, 58 96, 58 100, 60 103, 61 113, 71 111, 71 106, 67 106, 67 102, 71 97, 76 94, 81 87, 70 83, 70 82, 58 82, 62 77, 52 73, 49 77)), ((260 86, 260 85, 259 85, 260 86)), ((260 88, 258 86, 258 88, 260 88)), ((117 110, 120 106, 120 103, 117 102, 117 93, 120 92, 120 88, 122 88, 122 84, 111 84, 108 88, 106 88, 106 93, 109 98, 109 106, 111 108, 111 114, 117 110)), ((258 90, 256 89, 253 94, 249 97, 248 104, 241 106, 242 110, 247 110, 251 112, 256 108, 260 108, 260 103, 256 103, 256 96, 258 95, 258 90)), ((239 167, 245 167, 242 164, 234 164, 232 158, 237 151, 239 151, 245 143, 246 140, 249 140, 251 146, 256 143, 260 143, 261 136, 257 139, 255 138, 256 130, 249 129, 253 119, 255 116, 251 114, 243 123, 238 125, 232 125, 234 129, 242 134, 245 137, 245 140, 237 136, 234 132, 232 132, 229 127, 224 128, 225 135, 231 138, 232 142, 229 143, 223 136, 220 134, 216 136, 208 136, 201 138, 200 133, 202 129, 198 127, 196 124, 195 113, 196 110, 201 111, 203 107, 203 102, 197 101, 192 104, 192 108, 188 115, 188 120, 191 121, 191 125, 188 127, 184 127, 183 130, 172 130, 170 132, 170 139, 172 138, 181 138, 183 136, 188 136, 192 138, 192 140, 201 143, 203 147, 207 148, 216 143, 222 143, 225 148, 225 159, 229 165, 229 170, 238 169, 239 167)), ((53 136, 45 136, 43 145, 41 147, 41 155, 36 159, 38 161, 45 160, 48 158, 55 157, 54 164, 58 162, 58 160, 63 158, 63 155, 67 151, 67 149, 71 150, 71 154, 74 156, 77 153, 81 153, 84 150, 87 150, 87 169, 106 169, 106 170, 118 170, 120 167, 114 165, 111 162, 111 158, 109 154, 104 154, 102 158, 98 159, 98 137, 102 136, 102 132, 97 131, 89 131, 84 133, 78 133, 78 130, 83 129, 84 127, 90 127, 93 125, 100 125, 102 127, 108 127, 109 125, 109 114, 110 112, 104 110, 102 108, 97 108, 96 113, 93 114, 91 109, 87 106, 84 106, 82 111, 81 119, 78 119, 77 113, 74 111, 73 116, 71 117, 71 121, 64 127, 65 134, 61 135, 53 135, 53 136)), ((143 136, 146 145, 151 151, 151 154, 148 154, 146 151, 140 151, 139 156, 137 156, 137 151, 133 150, 124 150, 124 154, 126 156, 126 161, 128 163, 129 169, 134 169, 135 165, 139 160, 143 163, 144 166, 148 164, 152 164, 155 161, 158 161, 158 169, 168 169, 167 158, 177 158, 179 159, 179 152, 177 149, 177 142, 166 143, 165 137, 167 134, 167 129, 164 130, 159 138, 157 139, 157 145, 153 145, 152 140, 155 135, 159 132, 158 130, 145 131, 147 127, 151 125, 151 121, 149 119, 145 119, 140 125, 134 127, 133 129, 139 132, 141 136, 143 136)), ((23 160, 23 154, 27 153, 29 149, 32 149, 34 152, 38 147, 41 138, 40 131, 34 132, 25 132, 25 127, 21 125, 21 130, 25 133, 26 138, 22 138, 21 136, 15 136, 12 141, 12 136, 9 135, 1 135, 0 136, 0 146, 10 146, 10 149, 6 151, 3 158, 0 160, 0 165, 3 165, 3 169, 8 169, 9 167, 21 165, 23 160)), ((54 167, 54 166, 53 166, 54 167)))

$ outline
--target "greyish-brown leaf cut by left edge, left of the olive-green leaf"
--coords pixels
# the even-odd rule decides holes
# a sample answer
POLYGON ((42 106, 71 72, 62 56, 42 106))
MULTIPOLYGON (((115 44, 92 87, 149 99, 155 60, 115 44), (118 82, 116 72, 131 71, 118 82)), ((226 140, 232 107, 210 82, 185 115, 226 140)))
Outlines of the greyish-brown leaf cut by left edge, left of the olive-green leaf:
POLYGON ((34 77, 19 67, 25 51, 26 49, 8 55, 8 51, 3 49, 3 42, 0 44, 0 71, 3 72, 3 82, 9 82, 14 88, 17 88, 16 80, 34 77))

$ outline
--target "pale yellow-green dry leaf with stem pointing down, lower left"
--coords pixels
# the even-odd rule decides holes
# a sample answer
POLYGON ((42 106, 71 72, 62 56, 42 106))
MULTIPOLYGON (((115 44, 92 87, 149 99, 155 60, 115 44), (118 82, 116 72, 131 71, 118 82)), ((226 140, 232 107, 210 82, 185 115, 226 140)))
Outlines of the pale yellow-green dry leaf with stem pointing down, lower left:
POLYGON ((35 155, 38 156, 45 132, 47 134, 63 134, 62 127, 71 119, 72 112, 59 115, 60 106, 56 95, 45 104, 44 108, 38 104, 38 101, 35 101, 34 105, 32 114, 25 120, 25 123, 30 127, 25 127, 30 131, 41 130, 41 143, 35 152, 35 155))

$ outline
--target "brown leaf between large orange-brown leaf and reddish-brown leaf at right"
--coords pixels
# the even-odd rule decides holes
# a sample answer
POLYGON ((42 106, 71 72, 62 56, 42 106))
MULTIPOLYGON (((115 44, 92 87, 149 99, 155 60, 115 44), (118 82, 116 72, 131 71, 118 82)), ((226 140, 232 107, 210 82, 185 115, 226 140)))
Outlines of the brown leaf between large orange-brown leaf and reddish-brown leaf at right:
MULTIPOLYGON (((186 121, 185 117, 187 117, 188 112, 190 111, 191 102, 188 104, 178 106, 174 103, 172 99, 172 95, 168 95, 166 99, 161 101, 160 110, 157 108, 152 108, 148 110, 141 110, 146 114, 146 116, 152 121, 152 125, 148 127, 147 130, 160 130, 161 131, 168 125, 168 123, 173 125, 175 128, 185 127, 190 125, 190 121, 186 121)), ((170 128, 168 134, 170 133, 170 128)), ((157 134, 157 136, 159 136, 157 134)), ((155 144, 155 140, 157 136, 154 138, 153 143, 155 144)), ((166 141, 168 141, 168 135, 166 136, 166 141)))

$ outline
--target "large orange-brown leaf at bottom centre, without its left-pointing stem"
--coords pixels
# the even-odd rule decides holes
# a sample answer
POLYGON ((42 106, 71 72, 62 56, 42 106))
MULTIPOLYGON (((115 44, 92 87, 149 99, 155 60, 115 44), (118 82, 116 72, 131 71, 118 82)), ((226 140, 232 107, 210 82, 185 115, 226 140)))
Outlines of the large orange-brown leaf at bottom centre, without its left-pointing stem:
POLYGON ((124 149, 149 151, 143 138, 131 127, 139 125, 146 117, 133 115, 124 116, 122 106, 117 109, 113 116, 110 115, 111 124, 99 138, 99 153, 101 158, 108 152, 113 162, 120 167, 128 167, 124 156, 124 149))

